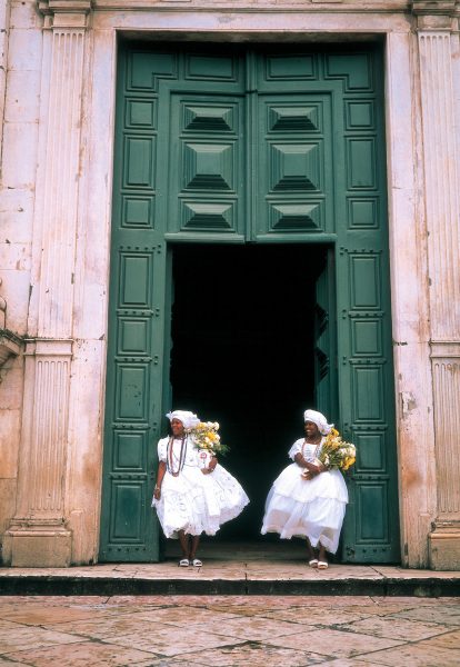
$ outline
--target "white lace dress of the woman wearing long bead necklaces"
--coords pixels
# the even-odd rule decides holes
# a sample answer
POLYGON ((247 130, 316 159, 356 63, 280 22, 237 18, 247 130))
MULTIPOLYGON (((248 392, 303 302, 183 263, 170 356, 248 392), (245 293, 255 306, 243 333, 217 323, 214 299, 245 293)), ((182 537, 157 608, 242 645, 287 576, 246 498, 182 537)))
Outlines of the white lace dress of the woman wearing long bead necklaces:
MULTIPOLYGON (((180 467, 181 439, 158 442, 158 458, 170 469, 180 467), (169 461, 168 461, 169 458, 169 461)), ((166 537, 177 538, 178 530, 189 535, 216 535, 220 526, 234 519, 248 505, 242 486, 220 464, 209 475, 201 471, 200 451, 191 437, 182 450, 183 467, 177 477, 164 472, 160 500, 152 500, 166 537)))

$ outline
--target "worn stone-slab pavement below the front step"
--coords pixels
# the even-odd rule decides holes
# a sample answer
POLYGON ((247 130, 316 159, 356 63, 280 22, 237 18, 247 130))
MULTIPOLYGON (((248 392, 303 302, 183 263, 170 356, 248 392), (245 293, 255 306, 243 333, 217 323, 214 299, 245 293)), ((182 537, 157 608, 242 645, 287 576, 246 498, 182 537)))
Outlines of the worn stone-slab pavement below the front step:
POLYGON ((0 665, 460 665, 459 598, 2 597, 0 665))

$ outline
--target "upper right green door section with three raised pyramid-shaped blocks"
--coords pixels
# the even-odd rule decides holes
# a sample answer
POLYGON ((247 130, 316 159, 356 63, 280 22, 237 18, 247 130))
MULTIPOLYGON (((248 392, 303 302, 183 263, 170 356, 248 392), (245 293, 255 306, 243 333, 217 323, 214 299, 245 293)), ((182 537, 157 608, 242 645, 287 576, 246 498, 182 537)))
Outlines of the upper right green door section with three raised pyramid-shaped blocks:
MULTIPOLYGON (((268 78, 270 63, 260 66, 260 70, 267 72, 260 86, 273 87, 268 78)), ((281 71, 278 62, 278 86, 281 71)), ((314 232, 331 230, 330 96, 259 93, 252 102, 254 106, 258 117, 257 168, 252 175, 257 187, 256 239, 259 242, 304 240, 314 232)))

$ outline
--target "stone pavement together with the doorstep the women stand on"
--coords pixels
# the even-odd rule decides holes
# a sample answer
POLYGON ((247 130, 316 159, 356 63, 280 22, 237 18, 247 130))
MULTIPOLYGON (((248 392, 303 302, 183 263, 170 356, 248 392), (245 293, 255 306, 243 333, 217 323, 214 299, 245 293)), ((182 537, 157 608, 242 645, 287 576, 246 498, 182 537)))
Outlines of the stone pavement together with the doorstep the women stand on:
POLYGON ((459 571, 319 571, 294 541, 203 544, 200 569, 178 568, 177 551, 169 542, 160 564, 0 568, 0 667, 460 666, 459 571), (4 595, 37 589, 48 595, 4 595), (78 590, 93 595, 56 597, 78 590))

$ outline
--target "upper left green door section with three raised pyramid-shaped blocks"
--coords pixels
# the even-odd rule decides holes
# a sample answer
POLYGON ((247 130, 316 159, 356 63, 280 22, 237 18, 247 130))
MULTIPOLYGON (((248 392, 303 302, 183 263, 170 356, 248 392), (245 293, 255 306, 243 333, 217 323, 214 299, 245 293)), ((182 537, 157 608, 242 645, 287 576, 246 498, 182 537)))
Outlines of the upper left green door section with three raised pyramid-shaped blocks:
POLYGON ((169 93, 166 88, 170 141, 164 159, 174 166, 167 185, 169 238, 236 240, 243 230, 246 201, 244 100, 217 92, 169 93))

